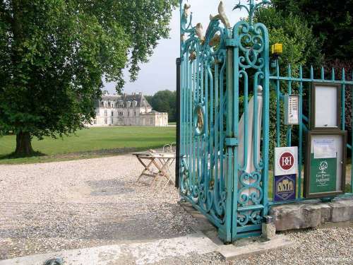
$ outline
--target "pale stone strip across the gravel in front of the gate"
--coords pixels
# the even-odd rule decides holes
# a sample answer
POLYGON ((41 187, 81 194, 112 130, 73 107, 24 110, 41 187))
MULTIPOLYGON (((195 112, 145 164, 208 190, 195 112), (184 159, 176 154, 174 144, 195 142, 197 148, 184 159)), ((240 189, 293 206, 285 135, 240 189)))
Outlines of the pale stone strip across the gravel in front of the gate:
POLYGON ((215 245, 202 233, 195 233, 184 237, 174 237, 152 242, 131 243, 74 249, 56 253, 37 254, 28 257, 0 261, 0 265, 42 265, 48 259, 61 257, 68 265, 128 265, 155 264, 163 262, 169 264, 170 259, 190 257, 215 252, 215 245))

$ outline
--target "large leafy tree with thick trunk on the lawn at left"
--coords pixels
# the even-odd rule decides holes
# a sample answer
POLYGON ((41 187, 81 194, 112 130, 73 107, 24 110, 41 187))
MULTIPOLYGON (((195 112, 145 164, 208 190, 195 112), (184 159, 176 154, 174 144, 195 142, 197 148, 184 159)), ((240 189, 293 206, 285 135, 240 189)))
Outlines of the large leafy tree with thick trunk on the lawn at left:
POLYGON ((16 134, 16 155, 31 139, 62 136, 95 117, 102 77, 136 79, 157 41, 168 37, 177 0, 4 0, 0 4, 0 132, 16 134))

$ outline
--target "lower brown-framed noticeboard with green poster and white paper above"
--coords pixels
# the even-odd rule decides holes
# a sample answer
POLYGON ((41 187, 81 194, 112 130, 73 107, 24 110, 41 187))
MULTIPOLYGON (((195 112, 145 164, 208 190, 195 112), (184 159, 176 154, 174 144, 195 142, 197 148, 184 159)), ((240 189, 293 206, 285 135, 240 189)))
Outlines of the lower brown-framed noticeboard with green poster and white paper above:
POLYGON ((344 193, 347 131, 309 131, 307 143, 304 196, 344 193))

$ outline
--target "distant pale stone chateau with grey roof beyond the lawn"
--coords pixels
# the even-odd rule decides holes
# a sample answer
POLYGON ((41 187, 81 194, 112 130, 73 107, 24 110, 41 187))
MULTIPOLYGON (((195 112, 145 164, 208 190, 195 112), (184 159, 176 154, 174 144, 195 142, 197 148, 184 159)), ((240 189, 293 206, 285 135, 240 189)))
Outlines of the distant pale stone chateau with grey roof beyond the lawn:
POLYGON ((104 91, 89 126, 168 126, 168 113, 152 110, 142 93, 111 95, 104 91))

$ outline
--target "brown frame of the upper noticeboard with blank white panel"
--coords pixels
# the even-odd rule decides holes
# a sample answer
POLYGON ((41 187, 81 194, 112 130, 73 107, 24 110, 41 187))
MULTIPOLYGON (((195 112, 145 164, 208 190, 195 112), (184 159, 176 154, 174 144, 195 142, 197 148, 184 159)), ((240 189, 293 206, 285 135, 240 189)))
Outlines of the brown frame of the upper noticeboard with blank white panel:
MULTIPOLYGON (((341 125, 341 86, 340 84, 337 83, 320 83, 320 82, 313 82, 311 83, 311 98, 310 98, 310 128, 312 130, 340 130, 340 125, 341 125), (317 119, 317 113, 316 113, 316 88, 318 86, 322 87, 327 87, 327 88, 335 88, 337 90, 336 98, 333 100, 334 102, 337 102, 337 107, 336 107, 336 124, 337 126, 316 126, 316 119, 317 119)), ((330 110, 327 105, 325 105, 325 110, 330 110)))

